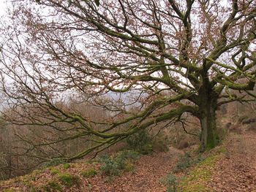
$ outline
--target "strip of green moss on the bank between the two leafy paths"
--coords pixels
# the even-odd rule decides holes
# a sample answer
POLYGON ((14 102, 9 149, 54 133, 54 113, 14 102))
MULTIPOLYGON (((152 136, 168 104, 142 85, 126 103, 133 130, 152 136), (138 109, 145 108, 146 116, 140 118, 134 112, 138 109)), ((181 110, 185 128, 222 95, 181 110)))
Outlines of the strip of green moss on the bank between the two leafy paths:
POLYGON ((210 188, 207 188, 206 184, 211 180, 211 175, 214 170, 214 166, 221 158, 222 155, 212 155, 203 161, 201 161, 191 172, 181 180, 178 188, 183 192, 204 192, 211 191, 210 188))

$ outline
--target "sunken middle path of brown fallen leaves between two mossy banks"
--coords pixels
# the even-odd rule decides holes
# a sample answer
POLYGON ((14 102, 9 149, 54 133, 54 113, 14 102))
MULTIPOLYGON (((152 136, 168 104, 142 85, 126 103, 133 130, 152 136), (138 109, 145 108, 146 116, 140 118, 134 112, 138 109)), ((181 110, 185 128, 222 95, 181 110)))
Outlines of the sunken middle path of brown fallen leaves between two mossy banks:
POLYGON ((171 147, 167 153, 143 155, 136 163, 135 172, 127 172, 115 177, 113 182, 105 182, 104 178, 91 180, 91 191, 130 192, 130 191, 166 191, 160 179, 165 177, 176 165, 180 150, 171 147))

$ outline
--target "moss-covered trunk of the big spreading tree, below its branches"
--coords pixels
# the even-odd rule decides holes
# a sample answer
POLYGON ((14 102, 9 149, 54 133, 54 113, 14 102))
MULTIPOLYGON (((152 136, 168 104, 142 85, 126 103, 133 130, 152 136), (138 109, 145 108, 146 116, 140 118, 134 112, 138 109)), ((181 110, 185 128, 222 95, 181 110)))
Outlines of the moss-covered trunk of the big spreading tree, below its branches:
POLYGON ((216 126, 216 110, 216 99, 209 99, 203 106, 200 107, 201 152, 215 147, 219 142, 216 126))

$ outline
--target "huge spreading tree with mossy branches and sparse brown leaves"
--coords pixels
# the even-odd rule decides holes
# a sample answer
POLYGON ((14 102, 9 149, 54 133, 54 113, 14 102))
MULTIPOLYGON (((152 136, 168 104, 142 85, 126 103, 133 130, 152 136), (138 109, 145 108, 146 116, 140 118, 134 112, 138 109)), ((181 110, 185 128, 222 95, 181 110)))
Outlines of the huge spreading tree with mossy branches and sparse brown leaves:
POLYGON ((218 107, 254 96, 255 7, 252 0, 15 1, 3 28, 1 77, 16 117, 4 117, 60 130, 57 122, 69 124, 72 138, 95 142, 72 157, 80 158, 189 113, 200 120, 201 150, 212 148, 218 107), (67 95, 108 118, 61 107, 67 95))

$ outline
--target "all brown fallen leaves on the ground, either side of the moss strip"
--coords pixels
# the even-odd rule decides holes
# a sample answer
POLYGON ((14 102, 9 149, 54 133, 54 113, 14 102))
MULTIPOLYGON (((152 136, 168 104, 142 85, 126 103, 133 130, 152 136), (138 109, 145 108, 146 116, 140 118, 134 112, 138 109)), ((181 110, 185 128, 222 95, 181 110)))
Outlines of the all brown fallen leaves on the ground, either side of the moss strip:
MULTIPOLYGON (((219 159, 214 167, 211 180, 207 188, 210 191, 255 191, 256 192, 256 134, 230 134, 225 141, 226 149, 223 158, 219 159)), ((64 165, 35 171, 23 177, 2 182, 0 191, 45 191, 43 186, 48 186, 55 181, 54 188, 61 186, 62 191, 95 191, 95 192, 164 192, 166 187, 160 183, 176 166, 180 150, 171 147, 167 153, 153 153, 143 155, 135 163, 135 172, 125 172, 121 176, 113 177, 99 173, 100 164, 75 163, 65 168, 64 165), (94 177, 83 177, 82 172, 88 169, 97 170, 94 177), (64 186, 59 175, 68 173, 78 176, 79 181, 74 185, 64 186)), ((197 166, 195 166, 196 168, 197 166)))

